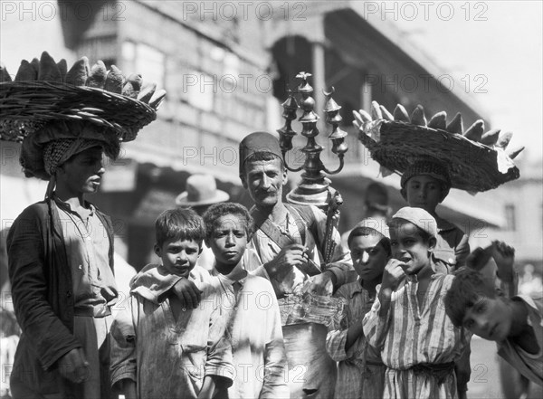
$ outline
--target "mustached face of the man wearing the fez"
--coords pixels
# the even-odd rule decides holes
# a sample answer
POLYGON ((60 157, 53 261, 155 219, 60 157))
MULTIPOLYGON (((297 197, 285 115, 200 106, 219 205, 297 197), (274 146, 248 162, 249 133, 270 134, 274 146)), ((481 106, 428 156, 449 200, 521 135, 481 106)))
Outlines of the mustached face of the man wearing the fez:
POLYGON ((271 208, 281 203, 282 186, 287 183, 287 171, 281 160, 248 161, 245 165, 243 187, 249 190, 257 208, 271 208))

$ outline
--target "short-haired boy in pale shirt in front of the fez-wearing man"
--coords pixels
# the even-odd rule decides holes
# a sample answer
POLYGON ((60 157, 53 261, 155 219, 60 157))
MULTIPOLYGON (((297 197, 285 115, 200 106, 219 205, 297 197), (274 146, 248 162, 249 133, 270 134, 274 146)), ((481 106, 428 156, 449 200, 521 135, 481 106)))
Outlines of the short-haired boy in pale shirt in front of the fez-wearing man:
POLYGON ((287 358, 281 315, 271 283, 249 274, 245 251, 252 217, 241 204, 212 205, 204 214, 205 243, 214 253, 212 274, 220 281, 228 315, 235 378, 231 398, 288 398, 287 358))

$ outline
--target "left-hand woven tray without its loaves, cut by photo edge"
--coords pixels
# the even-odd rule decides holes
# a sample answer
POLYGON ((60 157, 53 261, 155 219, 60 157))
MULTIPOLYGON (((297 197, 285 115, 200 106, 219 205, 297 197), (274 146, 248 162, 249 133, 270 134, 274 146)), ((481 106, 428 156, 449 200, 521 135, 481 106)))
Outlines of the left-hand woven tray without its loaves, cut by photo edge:
POLYGON ((131 141, 157 113, 142 101, 106 90, 50 81, 0 83, 0 139, 21 141, 55 119, 89 120, 131 141))

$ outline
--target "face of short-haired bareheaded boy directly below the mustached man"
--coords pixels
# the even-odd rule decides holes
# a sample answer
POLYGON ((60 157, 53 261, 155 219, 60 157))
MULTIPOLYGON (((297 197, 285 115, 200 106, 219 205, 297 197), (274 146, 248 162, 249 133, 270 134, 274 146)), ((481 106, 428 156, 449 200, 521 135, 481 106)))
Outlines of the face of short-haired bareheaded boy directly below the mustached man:
POLYGON ((224 214, 214 222, 213 234, 205 243, 217 264, 235 266, 247 247, 247 222, 237 214, 224 214))

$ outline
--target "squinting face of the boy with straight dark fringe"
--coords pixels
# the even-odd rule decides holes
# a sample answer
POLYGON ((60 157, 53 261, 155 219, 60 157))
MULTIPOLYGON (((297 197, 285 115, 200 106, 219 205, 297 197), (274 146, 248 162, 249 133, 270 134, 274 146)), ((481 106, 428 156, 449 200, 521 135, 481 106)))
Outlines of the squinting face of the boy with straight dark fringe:
POLYGON ((200 252, 202 249, 194 240, 167 240, 162 246, 155 244, 155 253, 166 270, 185 278, 194 269, 200 252))

